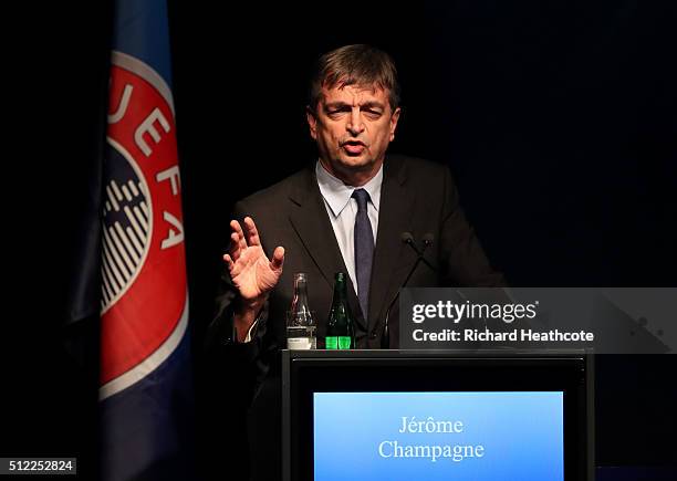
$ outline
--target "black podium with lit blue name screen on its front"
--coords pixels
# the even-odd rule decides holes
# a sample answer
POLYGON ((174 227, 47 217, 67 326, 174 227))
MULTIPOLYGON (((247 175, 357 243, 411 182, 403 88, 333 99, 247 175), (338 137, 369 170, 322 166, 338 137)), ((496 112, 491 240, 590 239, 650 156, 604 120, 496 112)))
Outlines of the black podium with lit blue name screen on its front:
POLYGON ((583 351, 284 351, 284 481, 594 479, 583 351))

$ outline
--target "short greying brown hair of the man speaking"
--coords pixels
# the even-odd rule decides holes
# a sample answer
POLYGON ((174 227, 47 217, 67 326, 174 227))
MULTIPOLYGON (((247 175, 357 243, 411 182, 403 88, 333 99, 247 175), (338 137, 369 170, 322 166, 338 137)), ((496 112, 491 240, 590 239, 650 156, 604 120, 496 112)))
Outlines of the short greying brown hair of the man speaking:
POLYGON ((345 45, 322 55, 311 76, 309 106, 314 112, 322 87, 374 85, 389 92, 390 109, 399 106, 397 70, 390 55, 371 45, 345 45))

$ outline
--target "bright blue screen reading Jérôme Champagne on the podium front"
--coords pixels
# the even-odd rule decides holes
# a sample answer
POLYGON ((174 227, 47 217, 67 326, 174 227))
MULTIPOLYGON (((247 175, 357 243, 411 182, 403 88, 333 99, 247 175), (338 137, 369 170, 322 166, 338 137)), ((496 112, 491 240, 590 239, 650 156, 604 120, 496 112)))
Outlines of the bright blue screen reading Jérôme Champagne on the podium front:
POLYGON ((315 481, 561 481, 563 393, 315 393, 315 481))

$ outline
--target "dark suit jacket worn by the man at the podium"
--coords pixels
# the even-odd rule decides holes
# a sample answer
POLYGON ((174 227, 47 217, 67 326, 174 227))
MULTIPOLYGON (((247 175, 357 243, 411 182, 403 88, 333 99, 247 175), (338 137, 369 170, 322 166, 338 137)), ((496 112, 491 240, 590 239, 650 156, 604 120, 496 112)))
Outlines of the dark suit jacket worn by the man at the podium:
MULTIPOLYGON (((336 242, 324 200, 320 194, 314 166, 309 166, 274 186, 236 205, 235 215, 251 216, 259 229, 264 251, 277 245, 285 249, 284 269, 260 316, 254 338, 243 345, 226 345, 231 335, 231 314, 237 294, 228 272, 222 276, 217 299, 217 316, 209 328, 208 348, 217 364, 239 366, 229 383, 238 389, 233 396, 249 404, 260 389, 250 416, 250 433, 257 426, 268 431, 269 441, 279 447, 280 390, 279 349, 285 347, 284 313, 291 305, 293 275, 308 274, 311 310, 316 312, 317 343, 323 347, 326 317, 333 294, 334 273, 347 272, 336 242), (264 381, 265 380, 265 381, 264 381), (274 418, 274 419, 273 419, 274 418)), ((356 317, 358 348, 378 348, 388 305, 416 262, 417 255, 402 241, 412 232, 418 241, 434 236, 427 250, 427 263, 420 263, 407 286, 499 286, 501 274, 494 272, 458 202, 458 192, 449 169, 421 159, 387 156, 384 164, 378 232, 369 285, 369 313, 365 316, 352 284, 348 301, 356 317)), ((390 347, 398 346, 398 306, 389 315, 390 347)), ((280 477, 279 452, 264 452, 260 438, 253 447, 254 479, 271 481, 280 477), (269 468, 260 472, 261 468, 269 468)))

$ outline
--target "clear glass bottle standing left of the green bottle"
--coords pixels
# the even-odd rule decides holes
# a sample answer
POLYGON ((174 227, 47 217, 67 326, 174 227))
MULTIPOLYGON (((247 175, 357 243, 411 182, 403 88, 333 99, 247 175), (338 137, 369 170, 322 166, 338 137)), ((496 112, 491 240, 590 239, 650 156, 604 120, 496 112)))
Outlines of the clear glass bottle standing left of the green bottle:
POLYGON ((287 312, 287 348, 316 349, 315 321, 308 303, 305 273, 294 274, 294 297, 287 312))

